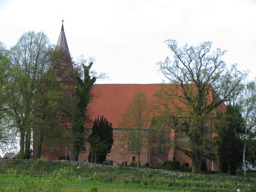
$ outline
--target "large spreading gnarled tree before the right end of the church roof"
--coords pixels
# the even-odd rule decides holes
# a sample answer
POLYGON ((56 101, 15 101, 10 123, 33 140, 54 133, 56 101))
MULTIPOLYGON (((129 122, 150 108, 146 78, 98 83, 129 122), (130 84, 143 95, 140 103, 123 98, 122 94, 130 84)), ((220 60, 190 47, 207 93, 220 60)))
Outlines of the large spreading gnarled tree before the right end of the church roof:
POLYGON ((212 42, 203 42, 197 47, 186 44, 183 48, 172 39, 165 43, 173 53, 173 61, 167 57, 157 64, 172 86, 163 91, 162 96, 158 95, 165 98, 159 108, 158 121, 179 132, 178 142, 166 139, 192 159, 193 173, 200 172, 205 158, 216 155, 213 141, 209 139, 213 110, 236 94, 233 91, 247 72, 238 71, 236 65, 228 70, 221 60, 225 51, 217 48, 211 53, 212 42), (181 106, 177 106, 179 102, 181 106))

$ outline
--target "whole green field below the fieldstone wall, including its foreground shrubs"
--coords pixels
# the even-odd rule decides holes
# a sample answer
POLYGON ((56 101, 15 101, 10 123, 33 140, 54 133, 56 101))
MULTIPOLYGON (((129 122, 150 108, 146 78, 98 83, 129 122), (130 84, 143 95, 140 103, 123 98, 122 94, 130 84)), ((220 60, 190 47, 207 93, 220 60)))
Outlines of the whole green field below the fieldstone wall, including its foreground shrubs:
MULTIPOLYGON (((144 173, 118 169, 76 167, 62 164, 31 164, 12 162, 0 164, 0 191, 256 191, 256 183, 243 175, 208 174, 193 177, 173 177, 155 172, 144 173), (8 171, 9 170, 9 171, 8 171)), ((248 177, 255 177, 248 175, 248 177)))

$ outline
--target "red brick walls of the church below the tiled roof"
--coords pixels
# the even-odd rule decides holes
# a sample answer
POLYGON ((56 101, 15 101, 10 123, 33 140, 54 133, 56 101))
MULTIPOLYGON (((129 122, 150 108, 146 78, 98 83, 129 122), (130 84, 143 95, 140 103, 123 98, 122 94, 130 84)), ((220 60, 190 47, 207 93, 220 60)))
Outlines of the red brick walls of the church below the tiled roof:
MULTIPOLYGON (((90 131, 87 133, 87 135, 90 134, 90 131)), ((147 130, 144 130, 145 135, 147 135, 147 130)), ((172 140, 175 139, 174 129, 170 129, 170 137, 172 140)), ((111 160, 113 163, 122 164, 122 162, 125 163, 127 161, 127 164, 130 165, 135 158, 135 162, 137 164, 138 157, 137 154, 134 152, 129 152, 129 135, 132 133, 132 129, 113 129, 113 140, 114 143, 111 148, 111 152, 107 154, 106 160, 111 160)), ((155 138, 155 142, 159 143, 159 137, 155 138)), ((53 150, 51 150, 50 145, 43 145, 41 156, 48 156, 49 160, 58 160, 60 156, 66 156, 66 139, 63 139, 63 145, 62 147, 58 147, 56 145, 53 145, 53 150)), ((148 139, 148 148, 146 146, 147 144, 147 137, 144 138, 144 147, 141 149, 141 155, 140 155, 140 165, 145 165, 147 162, 150 165, 155 165, 157 161, 160 163, 163 163, 165 160, 173 160, 173 156, 175 156, 176 159, 180 160, 180 164, 183 163, 189 163, 189 166, 191 166, 191 159, 186 156, 183 152, 174 149, 171 146, 166 146, 164 153, 159 153, 159 147, 153 147, 151 146, 151 143, 148 139), (148 152, 148 153, 147 153, 148 152)), ((34 145, 35 146, 35 143, 34 145)), ((33 158, 35 158, 34 154, 36 149, 33 147, 33 158)), ((88 161, 88 155, 90 151, 90 144, 86 142, 86 150, 80 152, 78 160, 79 161, 88 161)), ((68 148, 67 154, 70 156, 70 150, 68 148)))

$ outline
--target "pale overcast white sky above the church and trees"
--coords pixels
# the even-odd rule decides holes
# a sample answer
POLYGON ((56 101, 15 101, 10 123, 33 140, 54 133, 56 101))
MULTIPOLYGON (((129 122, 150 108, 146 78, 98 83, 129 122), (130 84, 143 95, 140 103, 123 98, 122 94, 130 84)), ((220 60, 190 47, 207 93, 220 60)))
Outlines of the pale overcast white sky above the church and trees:
POLYGON ((161 83, 158 61, 171 56, 166 39, 179 46, 212 41, 256 76, 255 0, 0 0, 0 41, 7 48, 29 30, 56 44, 64 19, 74 59, 96 56, 93 67, 110 80, 97 83, 161 83))

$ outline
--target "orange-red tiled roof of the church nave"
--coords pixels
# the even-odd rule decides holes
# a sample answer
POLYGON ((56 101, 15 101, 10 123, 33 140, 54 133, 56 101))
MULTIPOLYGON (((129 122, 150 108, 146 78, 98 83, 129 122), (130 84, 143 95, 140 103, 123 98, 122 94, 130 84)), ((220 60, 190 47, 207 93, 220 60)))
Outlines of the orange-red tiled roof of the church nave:
MULTIPOLYGON (((118 123, 136 92, 142 91, 150 102, 156 101, 154 94, 166 85, 174 86, 173 84, 94 84, 91 91, 92 100, 87 107, 88 116, 94 120, 98 115, 103 115, 112 123, 113 128, 118 128, 118 123)), ((181 94, 181 91, 177 93, 181 94)), ((184 105, 178 99, 176 100, 179 106, 184 105)), ((226 107, 222 104, 218 108, 225 111, 226 107)))

